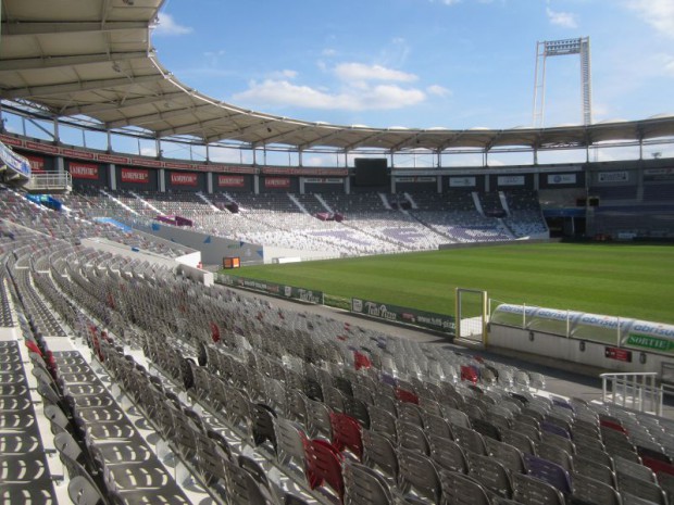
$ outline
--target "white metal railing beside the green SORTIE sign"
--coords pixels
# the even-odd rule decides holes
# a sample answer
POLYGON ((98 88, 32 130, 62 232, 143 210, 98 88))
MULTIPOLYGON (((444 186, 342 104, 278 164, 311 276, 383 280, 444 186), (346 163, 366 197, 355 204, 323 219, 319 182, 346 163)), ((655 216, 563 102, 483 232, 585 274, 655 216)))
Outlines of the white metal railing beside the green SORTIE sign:
POLYGON ((674 397, 674 387, 659 383, 658 373, 601 374, 603 403, 662 416, 665 395, 674 397))

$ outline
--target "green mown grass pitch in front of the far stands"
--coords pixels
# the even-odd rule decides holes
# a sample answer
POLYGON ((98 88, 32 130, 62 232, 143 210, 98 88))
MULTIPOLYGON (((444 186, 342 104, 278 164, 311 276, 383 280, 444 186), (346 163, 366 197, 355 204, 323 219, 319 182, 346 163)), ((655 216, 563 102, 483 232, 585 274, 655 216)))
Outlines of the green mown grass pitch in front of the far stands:
MULTIPOLYGON (((229 270, 232 273, 232 270, 229 270)), ((674 324, 671 245, 537 243, 249 266, 234 274, 454 313, 454 288, 499 302, 674 324)))

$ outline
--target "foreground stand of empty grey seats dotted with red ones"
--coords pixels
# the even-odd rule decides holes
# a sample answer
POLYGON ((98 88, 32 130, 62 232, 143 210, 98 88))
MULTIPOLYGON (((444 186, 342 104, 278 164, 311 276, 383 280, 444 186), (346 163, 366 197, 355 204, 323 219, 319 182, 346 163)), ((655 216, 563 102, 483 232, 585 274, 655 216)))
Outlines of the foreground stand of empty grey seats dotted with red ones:
POLYGON ((97 227, 8 197, 2 328, 18 331, 0 345, 5 502, 672 498, 671 421, 558 397, 533 371, 84 248, 97 227), (42 416, 49 428, 37 433, 42 416), (39 478, 27 485, 15 468, 39 478))

